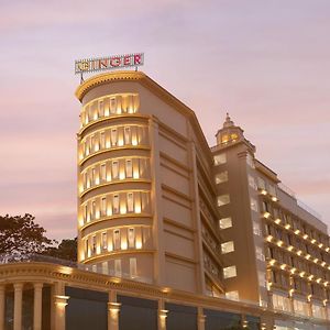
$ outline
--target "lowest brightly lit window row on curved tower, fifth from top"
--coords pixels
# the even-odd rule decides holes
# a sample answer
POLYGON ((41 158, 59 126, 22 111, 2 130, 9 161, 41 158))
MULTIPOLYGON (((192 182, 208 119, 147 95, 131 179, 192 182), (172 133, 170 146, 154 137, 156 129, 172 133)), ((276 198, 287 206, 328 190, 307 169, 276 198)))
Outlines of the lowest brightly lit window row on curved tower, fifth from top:
POLYGON ((85 239, 85 258, 106 252, 151 249, 148 227, 116 228, 85 239))

